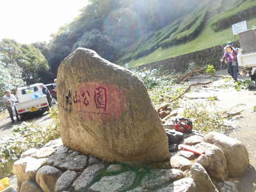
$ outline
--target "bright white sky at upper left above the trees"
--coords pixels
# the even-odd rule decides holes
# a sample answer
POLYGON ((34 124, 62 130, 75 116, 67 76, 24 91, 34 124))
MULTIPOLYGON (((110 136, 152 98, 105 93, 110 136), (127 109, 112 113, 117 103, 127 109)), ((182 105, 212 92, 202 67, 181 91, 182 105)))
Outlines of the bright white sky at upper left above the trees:
POLYGON ((0 0, 0 40, 30 44, 49 41, 52 33, 79 15, 88 0, 0 0))

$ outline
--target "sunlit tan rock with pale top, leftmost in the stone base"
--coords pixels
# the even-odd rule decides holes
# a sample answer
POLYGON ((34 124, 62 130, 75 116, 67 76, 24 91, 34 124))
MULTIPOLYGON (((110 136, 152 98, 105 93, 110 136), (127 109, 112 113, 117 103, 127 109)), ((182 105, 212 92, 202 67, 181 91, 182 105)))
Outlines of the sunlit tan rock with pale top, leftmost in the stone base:
POLYGON ((33 161, 34 158, 32 157, 25 157, 15 161, 13 163, 13 173, 17 176, 18 186, 20 188, 22 182, 26 181, 26 166, 29 161, 33 161))

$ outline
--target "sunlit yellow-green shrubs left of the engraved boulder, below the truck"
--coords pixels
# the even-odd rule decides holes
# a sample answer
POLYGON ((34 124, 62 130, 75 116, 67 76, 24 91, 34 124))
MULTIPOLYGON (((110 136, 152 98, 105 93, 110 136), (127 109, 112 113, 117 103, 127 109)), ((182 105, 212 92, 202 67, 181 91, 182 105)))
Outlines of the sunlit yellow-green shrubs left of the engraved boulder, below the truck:
POLYGON ((0 170, 1 177, 7 176, 12 171, 12 163, 29 148, 41 148, 51 140, 60 138, 58 109, 51 108, 51 124, 46 127, 35 122, 22 122, 13 126, 10 138, 0 138, 0 170))

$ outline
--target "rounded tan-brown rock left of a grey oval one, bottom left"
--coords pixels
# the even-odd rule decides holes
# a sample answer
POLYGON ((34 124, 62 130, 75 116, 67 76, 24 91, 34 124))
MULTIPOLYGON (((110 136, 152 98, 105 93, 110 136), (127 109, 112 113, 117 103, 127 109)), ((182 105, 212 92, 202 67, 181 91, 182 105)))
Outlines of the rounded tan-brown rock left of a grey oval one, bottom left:
POLYGON ((56 182, 61 176, 61 171, 45 165, 40 168, 36 173, 36 182, 43 189, 44 192, 52 192, 56 188, 56 182))

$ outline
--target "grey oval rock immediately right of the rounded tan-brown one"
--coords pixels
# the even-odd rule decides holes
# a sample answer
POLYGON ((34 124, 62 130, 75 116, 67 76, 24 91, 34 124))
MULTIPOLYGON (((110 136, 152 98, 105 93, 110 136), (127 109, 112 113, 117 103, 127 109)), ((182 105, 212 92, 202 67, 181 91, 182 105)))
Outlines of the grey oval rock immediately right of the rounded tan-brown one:
POLYGON ((72 182, 77 178, 78 174, 76 172, 67 170, 64 172, 56 183, 56 192, 61 192, 68 190, 72 184, 72 182))

